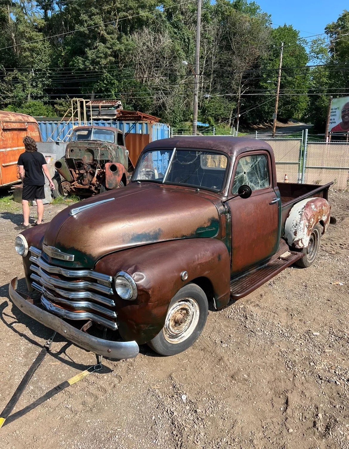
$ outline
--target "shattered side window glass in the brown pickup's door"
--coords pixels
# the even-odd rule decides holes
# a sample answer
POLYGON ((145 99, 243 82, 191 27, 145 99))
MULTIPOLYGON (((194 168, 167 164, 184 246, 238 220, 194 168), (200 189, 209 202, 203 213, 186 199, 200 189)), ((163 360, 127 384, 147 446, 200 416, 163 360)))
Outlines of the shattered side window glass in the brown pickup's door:
POLYGON ((252 191, 269 187, 268 159, 265 154, 251 154, 239 159, 231 193, 237 194, 240 185, 249 185, 252 191))

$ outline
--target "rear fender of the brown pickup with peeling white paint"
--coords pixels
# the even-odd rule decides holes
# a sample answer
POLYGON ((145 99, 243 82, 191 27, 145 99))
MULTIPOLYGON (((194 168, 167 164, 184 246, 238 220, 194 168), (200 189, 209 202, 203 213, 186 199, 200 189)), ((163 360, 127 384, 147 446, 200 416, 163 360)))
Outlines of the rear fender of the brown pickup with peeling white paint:
POLYGON ((324 198, 306 198, 297 202, 290 210, 285 222, 284 238, 289 246, 306 248, 310 234, 319 221, 323 234, 330 223, 331 206, 324 198))

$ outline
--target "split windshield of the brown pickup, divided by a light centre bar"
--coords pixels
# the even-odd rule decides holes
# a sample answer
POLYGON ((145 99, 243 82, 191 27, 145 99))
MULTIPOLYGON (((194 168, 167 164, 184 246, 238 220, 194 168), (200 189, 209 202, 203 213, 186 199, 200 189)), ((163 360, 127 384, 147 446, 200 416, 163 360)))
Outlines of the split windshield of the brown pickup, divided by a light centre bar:
POLYGON ((227 156, 198 150, 157 150, 143 154, 133 181, 183 184, 220 191, 227 156))

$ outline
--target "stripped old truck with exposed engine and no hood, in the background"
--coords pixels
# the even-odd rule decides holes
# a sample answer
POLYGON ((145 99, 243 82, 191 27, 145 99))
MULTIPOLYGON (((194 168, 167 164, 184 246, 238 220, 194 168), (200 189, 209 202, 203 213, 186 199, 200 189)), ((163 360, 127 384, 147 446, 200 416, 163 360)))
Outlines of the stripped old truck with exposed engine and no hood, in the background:
POLYGON ((122 131, 105 126, 74 128, 65 157, 55 167, 63 178, 58 186, 61 195, 91 195, 123 187, 134 168, 122 131))

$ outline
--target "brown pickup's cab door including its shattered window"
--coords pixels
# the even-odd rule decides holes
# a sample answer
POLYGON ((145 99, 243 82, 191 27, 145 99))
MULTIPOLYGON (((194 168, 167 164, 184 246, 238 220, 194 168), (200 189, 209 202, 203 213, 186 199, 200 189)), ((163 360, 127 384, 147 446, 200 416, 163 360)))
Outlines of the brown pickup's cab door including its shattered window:
POLYGON ((249 185, 249 198, 236 196, 231 209, 231 275, 268 260, 277 250, 280 199, 272 186, 270 156, 266 151, 244 153, 237 159, 231 194, 249 185))

